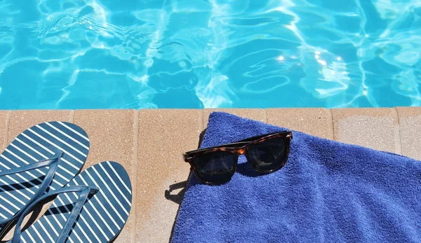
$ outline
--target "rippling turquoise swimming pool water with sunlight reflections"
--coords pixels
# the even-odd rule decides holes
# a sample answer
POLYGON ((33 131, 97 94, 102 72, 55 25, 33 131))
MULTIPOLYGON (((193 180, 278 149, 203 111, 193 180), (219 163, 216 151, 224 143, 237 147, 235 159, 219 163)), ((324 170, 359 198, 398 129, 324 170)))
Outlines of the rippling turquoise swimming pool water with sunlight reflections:
POLYGON ((421 1, 0 0, 0 109, 420 106, 421 1))

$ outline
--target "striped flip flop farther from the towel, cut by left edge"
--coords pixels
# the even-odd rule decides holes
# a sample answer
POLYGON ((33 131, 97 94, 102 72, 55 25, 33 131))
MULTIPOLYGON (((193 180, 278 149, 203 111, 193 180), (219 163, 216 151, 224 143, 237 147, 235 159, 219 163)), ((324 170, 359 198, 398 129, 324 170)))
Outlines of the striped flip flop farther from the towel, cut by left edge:
POLYGON ((88 135, 72 123, 40 123, 15 137, 0 155, 0 237, 29 204, 69 183, 88 151, 88 135))

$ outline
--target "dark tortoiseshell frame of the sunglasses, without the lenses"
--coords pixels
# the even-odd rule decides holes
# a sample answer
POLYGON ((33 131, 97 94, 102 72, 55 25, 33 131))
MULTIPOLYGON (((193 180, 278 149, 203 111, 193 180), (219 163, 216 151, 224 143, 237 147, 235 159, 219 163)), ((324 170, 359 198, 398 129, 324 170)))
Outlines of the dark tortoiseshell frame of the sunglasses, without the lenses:
MULTIPOLYGON (((290 151, 290 140, 293 139, 293 132, 292 131, 283 131, 283 132, 272 132, 269 134, 262 134, 259 136, 255 136, 255 137, 250 137, 247 139, 243 139, 241 141, 236 141, 233 143, 229 143, 229 144, 222 144, 222 145, 218 145, 218 146, 213 146, 213 147, 208 147, 208 148, 199 148, 193 151, 187 151, 186 153, 183 153, 183 159, 185 160, 185 162, 188 162, 190 165, 190 169, 195 173, 196 173, 196 167, 193 163, 194 159, 196 158, 197 155, 203 155, 204 153, 213 153, 215 151, 225 151, 225 152, 229 152, 229 153, 233 153, 234 154, 234 168, 233 168, 233 172, 230 176, 234 175, 234 172, 236 172, 236 166, 238 164, 238 158, 239 155, 246 155, 246 158, 248 160, 248 162, 250 162, 250 164, 252 165, 253 169, 255 169, 258 172, 261 173, 271 173, 271 172, 275 172, 279 169, 281 169, 285 164, 286 161, 288 160, 288 155, 289 155, 289 151, 290 151), (250 146, 253 146, 255 144, 259 144, 262 141, 268 141, 270 139, 274 139, 277 137, 281 137, 283 138, 284 141, 284 145, 285 145, 285 157, 283 158, 283 161, 281 163, 281 165, 279 167, 277 167, 276 169, 271 169, 271 170, 261 170, 261 169, 257 169, 255 167, 253 167, 253 164, 250 162, 250 159, 248 158, 248 149, 250 148, 250 146)), ((213 182, 209 182, 209 181, 204 181, 203 179, 200 178, 200 176, 196 176, 199 181, 201 181, 202 183, 206 183, 206 184, 215 184, 213 182)))

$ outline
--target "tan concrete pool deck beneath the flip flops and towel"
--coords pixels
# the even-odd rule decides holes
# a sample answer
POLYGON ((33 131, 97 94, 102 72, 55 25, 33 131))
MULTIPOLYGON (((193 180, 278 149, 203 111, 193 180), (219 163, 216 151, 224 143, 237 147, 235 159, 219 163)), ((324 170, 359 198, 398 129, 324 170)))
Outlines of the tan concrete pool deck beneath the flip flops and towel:
MULTIPOLYGON (((421 107, 217 110, 421 160, 421 107)), ((114 160, 131 176, 133 208, 115 242, 168 242, 189 175, 181 155, 199 146, 212 111, 215 109, 0 111, 0 151, 37 123, 62 120, 80 125, 91 139, 84 168, 114 160)), ((9 232, 3 240, 11 235, 9 232)))

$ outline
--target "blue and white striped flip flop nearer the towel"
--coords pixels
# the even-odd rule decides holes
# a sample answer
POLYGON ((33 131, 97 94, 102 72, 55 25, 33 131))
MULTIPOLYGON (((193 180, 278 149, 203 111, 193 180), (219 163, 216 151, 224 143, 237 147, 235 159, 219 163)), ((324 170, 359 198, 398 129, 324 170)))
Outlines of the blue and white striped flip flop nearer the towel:
POLYGON ((117 162, 100 162, 83 170, 64 188, 43 195, 25 209, 11 242, 110 242, 126 223, 131 202, 131 181, 123 166, 117 162), (55 195, 46 214, 20 232, 30 209, 55 195))

